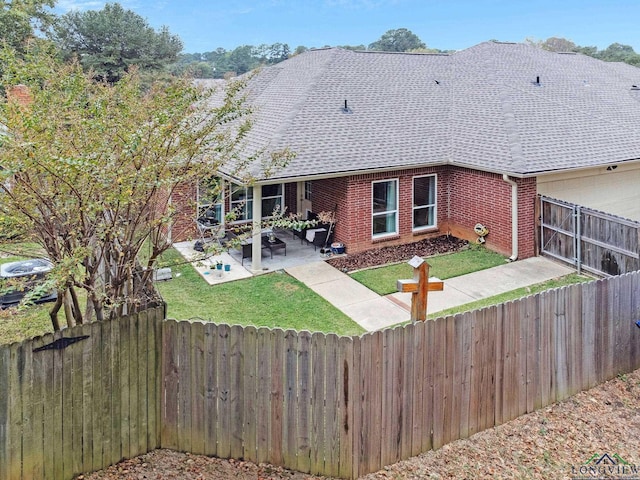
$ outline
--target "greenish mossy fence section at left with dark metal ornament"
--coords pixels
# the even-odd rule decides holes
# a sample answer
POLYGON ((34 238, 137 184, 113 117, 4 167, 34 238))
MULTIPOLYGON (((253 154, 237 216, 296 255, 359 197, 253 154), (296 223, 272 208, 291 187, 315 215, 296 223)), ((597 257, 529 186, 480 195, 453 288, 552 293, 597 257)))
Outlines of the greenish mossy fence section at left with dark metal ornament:
POLYGON ((157 308, 0 346, 0 479, 70 479, 158 448, 163 319, 157 308))

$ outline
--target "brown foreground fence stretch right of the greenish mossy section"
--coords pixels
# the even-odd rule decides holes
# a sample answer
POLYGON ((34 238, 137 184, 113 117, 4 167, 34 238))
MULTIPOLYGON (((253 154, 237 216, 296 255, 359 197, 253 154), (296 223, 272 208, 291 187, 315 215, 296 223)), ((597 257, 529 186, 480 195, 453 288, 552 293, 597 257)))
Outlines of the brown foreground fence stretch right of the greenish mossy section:
POLYGON ((162 446, 356 478, 640 368, 640 273, 356 338, 169 321, 162 446))

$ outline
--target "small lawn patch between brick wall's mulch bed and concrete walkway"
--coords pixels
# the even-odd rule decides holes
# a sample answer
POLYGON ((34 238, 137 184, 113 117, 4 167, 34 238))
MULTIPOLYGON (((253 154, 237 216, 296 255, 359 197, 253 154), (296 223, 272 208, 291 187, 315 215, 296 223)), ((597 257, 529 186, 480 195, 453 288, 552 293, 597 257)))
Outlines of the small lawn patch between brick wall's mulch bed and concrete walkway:
MULTIPOLYGON (((484 247, 472 246, 465 250, 435 257, 428 257, 429 276, 440 280, 458 277, 486 268, 504 265, 505 257, 487 250, 484 247)), ((386 265, 383 267, 360 270, 351 274, 354 280, 362 283, 378 295, 395 293, 396 282, 401 278, 411 278, 413 268, 407 262, 386 265)))

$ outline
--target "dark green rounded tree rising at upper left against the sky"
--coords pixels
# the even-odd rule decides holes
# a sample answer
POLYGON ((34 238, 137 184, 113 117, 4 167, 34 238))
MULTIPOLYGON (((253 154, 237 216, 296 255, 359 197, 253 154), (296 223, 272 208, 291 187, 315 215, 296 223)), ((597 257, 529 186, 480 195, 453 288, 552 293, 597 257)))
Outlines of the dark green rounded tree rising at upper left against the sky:
POLYGON ((72 11, 56 22, 51 39, 66 59, 77 56, 97 79, 117 82, 132 66, 160 70, 177 59, 182 41, 167 27, 158 32, 118 3, 104 9, 72 11))

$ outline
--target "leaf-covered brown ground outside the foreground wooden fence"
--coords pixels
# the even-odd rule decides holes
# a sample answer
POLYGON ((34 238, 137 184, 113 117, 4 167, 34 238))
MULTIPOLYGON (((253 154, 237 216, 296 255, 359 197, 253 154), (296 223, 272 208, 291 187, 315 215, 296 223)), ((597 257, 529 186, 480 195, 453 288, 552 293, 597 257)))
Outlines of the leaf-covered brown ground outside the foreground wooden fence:
MULTIPOLYGON (((616 476, 617 472, 632 472, 636 466, 640 470, 640 370, 360 479, 639 478, 640 473, 616 476), (605 454, 617 463, 608 464, 614 474, 591 475, 589 468, 604 465, 602 462, 596 466, 595 462, 605 454)), ((156 450, 78 478, 315 480, 327 477, 267 464, 156 450)))

